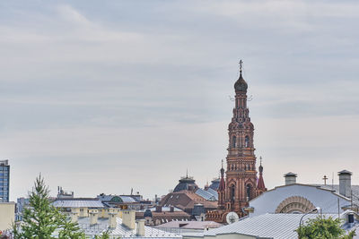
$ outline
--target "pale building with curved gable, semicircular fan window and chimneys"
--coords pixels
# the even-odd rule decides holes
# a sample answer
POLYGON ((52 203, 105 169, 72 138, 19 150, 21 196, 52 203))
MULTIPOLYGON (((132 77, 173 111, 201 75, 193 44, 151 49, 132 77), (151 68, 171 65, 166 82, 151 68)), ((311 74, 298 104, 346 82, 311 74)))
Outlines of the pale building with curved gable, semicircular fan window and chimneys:
POLYGON ((250 217, 265 213, 306 213, 320 208, 322 213, 358 212, 359 186, 351 185, 351 172, 338 173, 339 185, 297 184, 297 175, 285 174, 285 185, 263 192, 250 201, 250 217))

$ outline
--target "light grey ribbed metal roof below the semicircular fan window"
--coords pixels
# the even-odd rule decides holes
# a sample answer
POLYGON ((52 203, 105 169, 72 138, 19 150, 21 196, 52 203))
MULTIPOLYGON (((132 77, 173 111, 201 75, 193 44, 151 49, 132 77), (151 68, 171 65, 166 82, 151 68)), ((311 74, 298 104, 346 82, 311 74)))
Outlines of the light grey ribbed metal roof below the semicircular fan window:
MULTIPOLYGON (((274 239, 298 238, 294 230, 298 228, 303 214, 263 214, 253 218, 243 218, 228 226, 218 227, 205 232, 206 235, 243 234, 274 239)), ((317 218, 318 214, 309 214, 303 218, 317 218)), ((337 214, 326 214, 325 217, 337 218, 337 214)))

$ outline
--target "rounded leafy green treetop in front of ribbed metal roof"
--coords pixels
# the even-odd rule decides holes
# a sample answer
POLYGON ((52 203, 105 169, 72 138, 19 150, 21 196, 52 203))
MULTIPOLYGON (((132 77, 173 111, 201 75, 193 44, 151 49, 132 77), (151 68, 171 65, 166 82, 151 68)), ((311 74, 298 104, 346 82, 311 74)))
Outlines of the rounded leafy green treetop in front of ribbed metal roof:
POLYGON ((298 233, 298 238, 301 239, 352 239, 355 236, 355 231, 351 231, 346 235, 346 231, 340 227, 342 220, 340 218, 313 218, 309 219, 308 223, 299 226, 295 231, 298 233))

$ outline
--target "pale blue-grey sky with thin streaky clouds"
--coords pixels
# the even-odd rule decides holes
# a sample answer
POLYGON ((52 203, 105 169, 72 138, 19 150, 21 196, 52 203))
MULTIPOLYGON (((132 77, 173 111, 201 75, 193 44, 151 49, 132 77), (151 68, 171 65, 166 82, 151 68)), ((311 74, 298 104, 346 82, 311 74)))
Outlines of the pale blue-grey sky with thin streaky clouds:
POLYGON ((268 189, 359 184, 357 1, 1 1, 0 158, 77 197, 204 186, 228 146, 239 61, 268 189), (334 176, 333 176, 334 175, 334 176))

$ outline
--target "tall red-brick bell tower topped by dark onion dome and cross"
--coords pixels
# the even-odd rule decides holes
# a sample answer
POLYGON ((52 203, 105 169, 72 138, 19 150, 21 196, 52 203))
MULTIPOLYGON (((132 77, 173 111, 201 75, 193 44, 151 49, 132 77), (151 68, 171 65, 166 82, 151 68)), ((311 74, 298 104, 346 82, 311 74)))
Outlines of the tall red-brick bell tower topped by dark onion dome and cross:
POLYGON ((240 77, 234 84, 235 106, 232 121, 228 125, 227 170, 221 169, 221 180, 218 188, 218 209, 207 213, 207 220, 225 222, 230 211, 239 217, 246 213, 243 208, 261 192, 267 191, 263 180, 263 166, 259 166, 259 178, 256 170, 256 156, 253 143, 254 126, 250 122, 250 109, 247 106, 248 84, 240 77))

